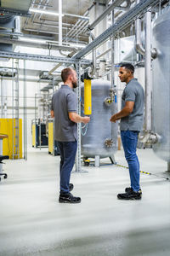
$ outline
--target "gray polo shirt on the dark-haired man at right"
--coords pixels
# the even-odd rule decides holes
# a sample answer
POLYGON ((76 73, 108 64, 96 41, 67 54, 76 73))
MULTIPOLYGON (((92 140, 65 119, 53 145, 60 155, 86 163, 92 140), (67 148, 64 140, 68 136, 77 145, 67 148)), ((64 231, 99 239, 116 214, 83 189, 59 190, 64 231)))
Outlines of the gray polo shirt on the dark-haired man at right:
POLYGON ((122 92, 122 108, 125 102, 134 102, 133 112, 121 119, 121 131, 141 131, 144 122, 144 89, 137 79, 131 79, 122 92))

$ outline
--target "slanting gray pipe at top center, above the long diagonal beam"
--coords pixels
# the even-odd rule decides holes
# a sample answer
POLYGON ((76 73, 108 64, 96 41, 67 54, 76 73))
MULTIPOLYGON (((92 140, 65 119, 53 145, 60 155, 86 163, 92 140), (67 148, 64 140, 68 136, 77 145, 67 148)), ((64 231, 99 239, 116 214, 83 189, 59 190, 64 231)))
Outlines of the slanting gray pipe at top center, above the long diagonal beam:
POLYGON ((95 26, 99 24, 99 21, 103 20, 106 15, 109 15, 113 9, 116 8, 116 6, 121 5, 125 0, 116 0, 114 3, 111 3, 110 7, 105 9, 105 12, 103 12, 102 15, 100 15, 92 24, 88 26, 89 30, 93 30, 95 26))

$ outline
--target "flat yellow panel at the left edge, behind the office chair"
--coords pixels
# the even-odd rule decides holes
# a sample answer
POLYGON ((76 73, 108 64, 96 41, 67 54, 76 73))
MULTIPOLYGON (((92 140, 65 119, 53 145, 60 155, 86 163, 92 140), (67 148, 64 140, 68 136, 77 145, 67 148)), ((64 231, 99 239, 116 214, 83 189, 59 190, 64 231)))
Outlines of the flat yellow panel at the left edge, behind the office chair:
POLYGON ((17 144, 16 119, 0 119, 0 133, 7 134, 8 138, 3 139, 3 155, 8 155, 10 159, 22 158, 22 119, 19 119, 19 147, 17 144), (14 134, 13 134, 14 131, 14 134))

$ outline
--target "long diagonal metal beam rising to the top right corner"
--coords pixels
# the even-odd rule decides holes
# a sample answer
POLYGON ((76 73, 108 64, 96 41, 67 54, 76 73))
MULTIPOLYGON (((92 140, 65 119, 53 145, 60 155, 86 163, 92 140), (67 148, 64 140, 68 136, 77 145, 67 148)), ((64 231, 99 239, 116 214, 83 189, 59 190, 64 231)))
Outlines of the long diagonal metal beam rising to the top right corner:
POLYGON ((77 55, 74 55, 72 59, 80 59, 84 55, 87 55, 95 47, 99 47, 100 44, 103 44, 112 34, 115 34, 117 31, 122 30, 124 27, 128 26, 133 19, 137 18, 140 14, 144 13, 147 9, 152 6, 156 6, 156 3, 159 3, 160 0, 143 0, 139 4, 136 4, 133 9, 130 9, 122 15, 120 20, 117 20, 115 24, 110 26, 105 32, 99 35, 98 38, 95 38, 94 41, 88 44, 87 47, 80 50, 77 55))

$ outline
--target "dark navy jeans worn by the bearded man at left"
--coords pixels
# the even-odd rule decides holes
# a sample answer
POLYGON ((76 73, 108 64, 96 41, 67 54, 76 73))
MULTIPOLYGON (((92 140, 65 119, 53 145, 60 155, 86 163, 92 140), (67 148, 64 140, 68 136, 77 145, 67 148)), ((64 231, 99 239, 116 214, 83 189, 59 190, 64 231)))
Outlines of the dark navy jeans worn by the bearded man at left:
POLYGON ((66 194, 69 193, 71 171, 77 154, 77 141, 58 142, 58 146, 60 151, 60 194, 66 194))

